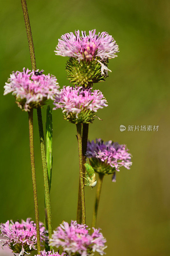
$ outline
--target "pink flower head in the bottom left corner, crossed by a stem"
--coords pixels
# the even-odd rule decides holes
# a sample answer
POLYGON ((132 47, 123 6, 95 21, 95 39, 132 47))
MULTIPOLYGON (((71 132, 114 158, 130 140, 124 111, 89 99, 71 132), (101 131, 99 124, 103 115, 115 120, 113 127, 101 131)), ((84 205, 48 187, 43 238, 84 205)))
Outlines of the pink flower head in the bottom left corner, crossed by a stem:
MULTIPOLYGON (((0 224, 0 230, 1 235, 5 237, 0 240, 1 247, 8 245, 13 252, 19 253, 19 256, 30 254, 36 250, 36 224, 30 218, 27 218, 26 221, 21 220, 21 223, 8 220, 6 223, 0 224)), ((47 239, 46 233, 43 223, 40 222, 41 243, 47 239)))

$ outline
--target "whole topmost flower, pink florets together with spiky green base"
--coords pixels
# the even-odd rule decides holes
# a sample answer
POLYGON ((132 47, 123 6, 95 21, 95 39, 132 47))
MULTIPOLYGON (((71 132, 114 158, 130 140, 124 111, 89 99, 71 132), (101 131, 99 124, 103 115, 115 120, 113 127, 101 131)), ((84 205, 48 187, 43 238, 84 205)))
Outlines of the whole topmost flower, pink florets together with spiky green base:
POLYGON ((68 56, 66 72, 70 82, 87 87, 92 83, 105 81, 108 59, 117 57, 118 45, 112 36, 107 32, 98 33, 96 30, 86 32, 75 31, 75 35, 70 32, 58 39, 55 54, 68 56))

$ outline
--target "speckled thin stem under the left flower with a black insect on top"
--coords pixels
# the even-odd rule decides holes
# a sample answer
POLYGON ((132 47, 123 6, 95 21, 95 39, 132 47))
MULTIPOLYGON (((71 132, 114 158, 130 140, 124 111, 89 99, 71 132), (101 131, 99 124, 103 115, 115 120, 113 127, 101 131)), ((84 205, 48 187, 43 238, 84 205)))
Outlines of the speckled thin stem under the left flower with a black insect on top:
POLYGON ((36 229, 37 229, 37 251, 38 251, 38 254, 40 254, 40 251, 41 251, 41 247, 40 247, 40 225, 39 225, 37 185, 36 185, 34 150, 33 150, 33 108, 30 109, 30 111, 28 111, 28 122, 29 122, 29 141, 30 141, 31 171, 32 171, 32 179, 33 179, 35 221, 36 221, 36 229))

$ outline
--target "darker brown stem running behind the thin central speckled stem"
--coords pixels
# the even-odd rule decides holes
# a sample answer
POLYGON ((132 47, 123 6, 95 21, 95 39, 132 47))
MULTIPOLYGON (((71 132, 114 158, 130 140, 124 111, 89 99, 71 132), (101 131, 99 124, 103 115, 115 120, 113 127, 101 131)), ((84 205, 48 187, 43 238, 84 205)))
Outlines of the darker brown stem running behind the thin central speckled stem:
MULTIPOLYGON (((89 124, 83 124, 83 132, 82 132, 82 155, 83 155, 83 174, 85 173, 85 153, 87 150, 87 140, 88 140, 88 131, 89 131, 89 124)), ((77 206, 77 222, 82 223, 82 205, 81 205, 81 184, 79 180, 79 187, 78 187, 78 206, 77 206)))

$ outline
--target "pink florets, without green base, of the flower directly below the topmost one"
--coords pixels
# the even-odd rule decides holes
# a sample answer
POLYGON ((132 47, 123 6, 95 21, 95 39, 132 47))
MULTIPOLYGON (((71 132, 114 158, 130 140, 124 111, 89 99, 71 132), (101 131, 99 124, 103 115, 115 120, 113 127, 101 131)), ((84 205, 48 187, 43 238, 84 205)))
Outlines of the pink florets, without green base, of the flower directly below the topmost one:
POLYGON ((63 86, 60 94, 55 97, 53 109, 61 108, 67 114, 69 112, 78 114, 83 109, 97 112, 99 108, 107 107, 107 100, 99 90, 91 91, 92 88, 63 86))

